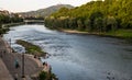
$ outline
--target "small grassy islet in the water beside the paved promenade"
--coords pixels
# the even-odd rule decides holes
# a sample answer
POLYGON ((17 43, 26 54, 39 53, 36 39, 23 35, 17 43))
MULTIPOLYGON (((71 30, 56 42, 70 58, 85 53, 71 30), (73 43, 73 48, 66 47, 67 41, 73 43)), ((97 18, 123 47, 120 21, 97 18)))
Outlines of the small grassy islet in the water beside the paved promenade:
POLYGON ((37 56, 45 56, 45 52, 43 52, 38 46, 33 45, 33 44, 31 44, 29 42, 18 39, 16 44, 20 44, 23 47, 25 47, 25 50, 26 50, 25 53, 26 54, 32 54, 32 55, 37 55, 37 56))

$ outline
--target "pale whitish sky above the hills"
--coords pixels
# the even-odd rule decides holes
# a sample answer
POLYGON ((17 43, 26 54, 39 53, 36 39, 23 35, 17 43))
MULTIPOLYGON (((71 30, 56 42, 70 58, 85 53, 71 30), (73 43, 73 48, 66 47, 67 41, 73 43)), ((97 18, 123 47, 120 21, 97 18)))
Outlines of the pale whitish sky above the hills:
POLYGON ((10 12, 26 12, 48 8, 56 4, 72 4, 79 7, 91 0, 0 0, 0 10, 10 12))

